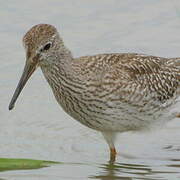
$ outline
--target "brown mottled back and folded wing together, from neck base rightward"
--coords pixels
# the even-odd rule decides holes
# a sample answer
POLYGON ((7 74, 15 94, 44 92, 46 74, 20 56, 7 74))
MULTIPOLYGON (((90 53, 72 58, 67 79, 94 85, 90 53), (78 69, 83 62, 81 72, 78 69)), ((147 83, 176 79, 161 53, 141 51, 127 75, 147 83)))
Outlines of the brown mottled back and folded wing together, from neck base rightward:
POLYGON ((73 67, 98 98, 163 104, 180 93, 175 63, 179 64, 178 58, 122 53, 80 57, 73 67))

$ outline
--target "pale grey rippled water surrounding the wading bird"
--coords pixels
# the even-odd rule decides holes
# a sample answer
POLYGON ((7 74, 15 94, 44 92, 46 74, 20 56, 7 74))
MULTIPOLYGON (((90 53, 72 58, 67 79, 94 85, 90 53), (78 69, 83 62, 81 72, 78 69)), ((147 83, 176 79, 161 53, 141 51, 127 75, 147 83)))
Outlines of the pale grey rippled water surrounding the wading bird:
MULTIPOLYGON (((8 104, 25 62, 24 33, 55 25, 75 56, 139 52, 180 56, 178 0, 0 0, 0 157, 60 161, 38 170, 5 171, 5 180, 180 179, 180 123, 153 133, 124 133, 108 163, 101 134, 65 114, 37 71, 13 111, 8 104)), ((180 105, 177 106, 177 109, 180 105)))

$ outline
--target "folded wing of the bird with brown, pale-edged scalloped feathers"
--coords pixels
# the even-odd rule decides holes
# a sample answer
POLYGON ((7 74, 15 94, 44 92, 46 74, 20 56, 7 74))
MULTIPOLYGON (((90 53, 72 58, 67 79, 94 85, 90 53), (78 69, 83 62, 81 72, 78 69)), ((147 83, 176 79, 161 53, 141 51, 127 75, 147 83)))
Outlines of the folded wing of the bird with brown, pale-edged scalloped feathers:
POLYGON ((164 103, 177 94, 177 72, 166 65, 168 59, 139 54, 116 54, 117 60, 100 79, 101 88, 125 101, 164 103))

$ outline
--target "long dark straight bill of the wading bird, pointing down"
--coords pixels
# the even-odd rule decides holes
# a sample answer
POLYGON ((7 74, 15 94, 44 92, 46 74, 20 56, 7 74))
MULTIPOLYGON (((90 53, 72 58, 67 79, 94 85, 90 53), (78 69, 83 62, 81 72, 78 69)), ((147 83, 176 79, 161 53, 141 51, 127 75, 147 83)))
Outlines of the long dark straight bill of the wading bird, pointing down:
POLYGON ((28 79, 30 78, 30 76, 35 71, 36 67, 37 67, 37 64, 26 61, 26 65, 24 67, 23 74, 20 78, 20 81, 16 87, 16 90, 15 90, 13 97, 11 99, 11 102, 9 104, 9 110, 12 110, 14 108, 15 102, 16 102, 19 94, 21 93, 23 87, 25 86, 25 84, 28 81, 28 79))

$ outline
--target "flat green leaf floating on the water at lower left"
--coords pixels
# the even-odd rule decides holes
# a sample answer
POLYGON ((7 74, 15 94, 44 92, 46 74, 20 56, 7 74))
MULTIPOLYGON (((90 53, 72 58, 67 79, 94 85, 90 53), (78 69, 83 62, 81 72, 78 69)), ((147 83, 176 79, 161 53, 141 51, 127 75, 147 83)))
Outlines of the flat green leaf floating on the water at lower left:
POLYGON ((51 164, 59 164, 59 163, 60 162, 33 160, 33 159, 0 158, 0 171, 38 169, 38 168, 48 167, 51 164))

